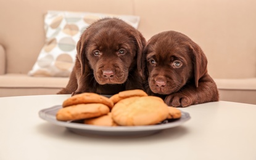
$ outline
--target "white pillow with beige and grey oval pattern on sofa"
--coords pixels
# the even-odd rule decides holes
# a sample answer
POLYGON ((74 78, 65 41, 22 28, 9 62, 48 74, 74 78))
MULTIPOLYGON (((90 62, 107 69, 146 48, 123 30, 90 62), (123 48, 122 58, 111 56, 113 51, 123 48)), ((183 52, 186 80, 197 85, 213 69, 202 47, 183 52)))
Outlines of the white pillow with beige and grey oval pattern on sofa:
POLYGON ((48 11, 44 17, 46 41, 30 76, 68 77, 73 69, 76 43, 91 23, 104 17, 117 17, 138 28, 139 17, 89 12, 48 11))

